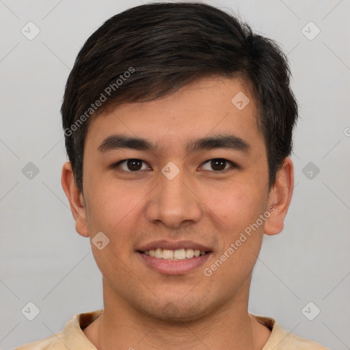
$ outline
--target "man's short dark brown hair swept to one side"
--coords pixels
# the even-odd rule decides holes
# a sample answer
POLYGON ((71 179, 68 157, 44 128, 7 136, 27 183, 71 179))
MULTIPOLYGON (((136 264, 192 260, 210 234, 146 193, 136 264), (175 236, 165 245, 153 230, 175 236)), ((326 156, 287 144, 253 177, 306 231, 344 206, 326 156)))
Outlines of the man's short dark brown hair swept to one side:
POLYGON ((204 3, 178 2, 139 5, 116 14, 77 55, 61 112, 80 191, 91 115, 120 103, 155 100, 211 75, 240 77, 252 87, 272 186, 291 154, 297 119, 286 55, 231 14, 204 3))

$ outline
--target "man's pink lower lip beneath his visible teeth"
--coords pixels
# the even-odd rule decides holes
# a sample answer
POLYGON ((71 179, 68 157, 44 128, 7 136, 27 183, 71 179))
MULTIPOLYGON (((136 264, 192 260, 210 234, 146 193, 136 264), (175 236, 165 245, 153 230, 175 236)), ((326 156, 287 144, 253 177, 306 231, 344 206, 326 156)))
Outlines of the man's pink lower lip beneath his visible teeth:
POLYGON ((151 267, 155 271, 165 273, 167 275, 182 275, 202 266, 204 262, 208 260, 211 252, 183 260, 166 260, 162 258, 153 258, 152 256, 140 252, 137 252, 137 254, 142 258, 148 267, 151 267))

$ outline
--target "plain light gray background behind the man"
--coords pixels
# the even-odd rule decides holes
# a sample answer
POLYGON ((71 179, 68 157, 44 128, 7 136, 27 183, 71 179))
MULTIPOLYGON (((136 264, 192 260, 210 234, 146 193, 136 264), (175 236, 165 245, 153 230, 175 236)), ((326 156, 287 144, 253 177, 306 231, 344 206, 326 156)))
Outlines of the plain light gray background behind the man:
MULTIPOLYGON (((3 350, 62 331, 73 314, 103 308, 90 243, 75 232, 60 184, 66 154, 59 107, 85 40, 107 18, 142 2, 0 0, 3 350), (29 21, 40 29, 33 40, 21 33, 29 21), (39 170, 31 178, 22 171, 29 162, 39 170), (29 301, 40 309, 33 321, 21 313, 29 301)), ((350 349, 350 1, 207 2, 234 10, 282 44, 300 105, 294 197, 284 232, 265 237, 250 312, 331 349, 350 349), (317 28, 310 21, 321 30, 312 40, 317 28), (312 318, 317 308, 309 321, 305 314, 312 318)))

